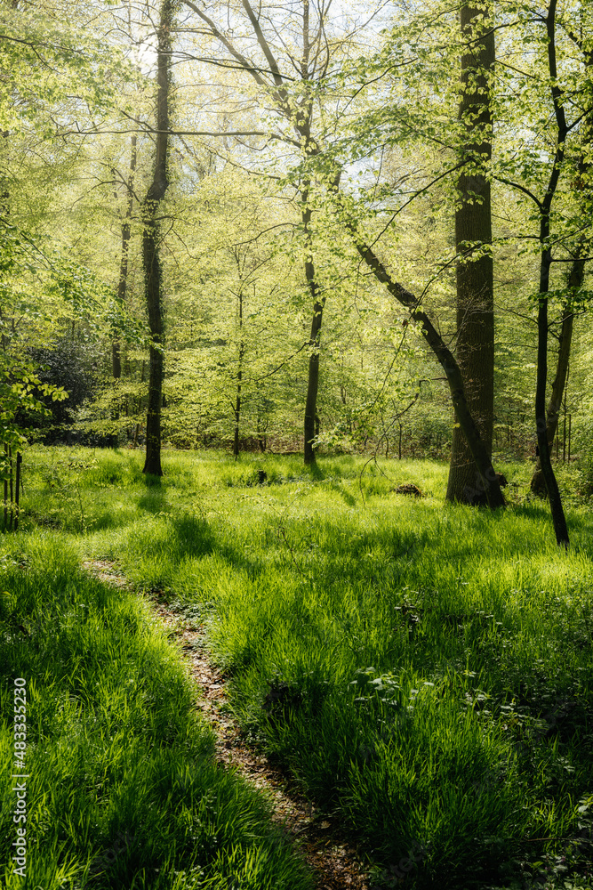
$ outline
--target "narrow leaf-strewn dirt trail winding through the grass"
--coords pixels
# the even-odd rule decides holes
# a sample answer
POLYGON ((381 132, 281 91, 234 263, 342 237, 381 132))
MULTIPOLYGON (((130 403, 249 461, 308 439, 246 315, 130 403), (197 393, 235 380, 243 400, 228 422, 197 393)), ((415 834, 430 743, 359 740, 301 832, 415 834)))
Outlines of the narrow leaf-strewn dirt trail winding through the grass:
MULTIPOLYGON (((119 573, 115 562, 92 559, 85 560, 82 566, 107 584, 135 590, 119 573)), ((236 769, 268 796, 274 821, 292 838, 313 870, 316 890, 369 890, 357 851, 344 840, 339 821, 318 813, 316 807, 288 787, 284 773, 245 744, 240 727, 228 710, 224 679, 209 658, 204 628, 191 625, 182 614, 172 611, 162 596, 144 596, 164 624, 169 638, 179 646, 188 675, 198 687, 196 704, 214 732, 217 762, 225 769, 236 769)))

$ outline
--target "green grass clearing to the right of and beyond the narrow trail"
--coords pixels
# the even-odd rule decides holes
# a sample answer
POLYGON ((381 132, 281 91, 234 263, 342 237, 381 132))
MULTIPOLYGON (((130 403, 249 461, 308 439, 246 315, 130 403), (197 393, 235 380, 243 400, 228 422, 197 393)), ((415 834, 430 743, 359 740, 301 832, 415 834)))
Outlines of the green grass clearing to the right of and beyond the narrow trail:
POLYGON ((377 886, 589 886, 586 510, 564 554, 520 465, 499 514, 445 506, 429 462, 164 467, 145 480, 134 454, 37 452, 23 525, 52 517, 206 623, 244 731, 363 838, 377 886), (427 497, 394 493, 403 481, 427 497))

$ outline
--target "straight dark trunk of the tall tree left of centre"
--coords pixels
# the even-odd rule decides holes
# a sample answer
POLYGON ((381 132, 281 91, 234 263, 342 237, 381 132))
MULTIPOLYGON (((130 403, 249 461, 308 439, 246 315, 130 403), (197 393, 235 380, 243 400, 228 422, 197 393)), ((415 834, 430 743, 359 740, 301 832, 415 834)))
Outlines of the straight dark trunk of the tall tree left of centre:
POLYGON ((156 158, 153 181, 142 204, 142 264, 144 292, 148 310, 148 327, 152 336, 148 375, 148 410, 146 418, 146 460, 143 473, 162 476, 161 468, 161 406, 163 404, 164 325, 163 267, 159 252, 159 225, 156 219, 159 203, 169 185, 167 160, 169 153, 169 85, 171 74, 171 25, 174 0, 164 0, 158 27, 157 93, 156 93, 156 158))

